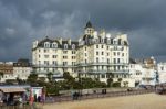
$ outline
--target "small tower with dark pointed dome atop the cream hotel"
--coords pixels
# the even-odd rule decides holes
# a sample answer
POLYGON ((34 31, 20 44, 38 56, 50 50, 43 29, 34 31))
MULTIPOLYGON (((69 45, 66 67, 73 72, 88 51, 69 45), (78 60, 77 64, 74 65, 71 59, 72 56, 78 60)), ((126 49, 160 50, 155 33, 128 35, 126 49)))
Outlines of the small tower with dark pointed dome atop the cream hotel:
POLYGON ((86 26, 84 29, 85 29, 84 31, 85 35, 91 35, 91 36, 93 35, 94 28, 92 26, 92 23, 90 21, 87 21, 86 26))

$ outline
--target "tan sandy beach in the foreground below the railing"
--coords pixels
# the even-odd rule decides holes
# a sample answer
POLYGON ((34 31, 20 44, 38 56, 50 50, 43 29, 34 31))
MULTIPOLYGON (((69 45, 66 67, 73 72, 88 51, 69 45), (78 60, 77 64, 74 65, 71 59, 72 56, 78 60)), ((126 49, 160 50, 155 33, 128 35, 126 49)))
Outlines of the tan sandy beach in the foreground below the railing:
POLYGON ((166 109, 166 96, 146 94, 44 105, 43 109, 166 109))

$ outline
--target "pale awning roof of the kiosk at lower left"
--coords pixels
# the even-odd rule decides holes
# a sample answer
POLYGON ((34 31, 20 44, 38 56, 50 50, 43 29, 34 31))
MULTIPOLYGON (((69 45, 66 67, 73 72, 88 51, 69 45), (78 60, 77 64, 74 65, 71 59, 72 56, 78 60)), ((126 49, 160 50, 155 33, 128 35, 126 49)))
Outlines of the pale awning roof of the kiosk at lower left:
POLYGON ((0 90, 2 91, 2 92, 24 92, 25 91, 25 89, 23 89, 23 88, 11 88, 11 87, 9 87, 9 88, 0 88, 0 90))

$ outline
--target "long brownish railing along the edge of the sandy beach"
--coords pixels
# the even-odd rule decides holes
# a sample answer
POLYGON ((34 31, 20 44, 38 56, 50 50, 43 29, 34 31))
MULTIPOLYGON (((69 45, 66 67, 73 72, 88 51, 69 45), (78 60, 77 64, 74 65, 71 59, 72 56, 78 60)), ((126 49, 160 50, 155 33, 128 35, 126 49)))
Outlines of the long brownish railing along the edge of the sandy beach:
POLYGON ((142 89, 142 90, 126 90, 126 91, 112 91, 112 92, 100 92, 100 94, 84 94, 79 95, 77 97, 73 98, 73 96, 55 96, 55 97, 48 97, 45 103, 54 103, 54 102, 64 102, 64 101, 74 101, 74 100, 84 100, 84 99, 96 99, 96 98, 105 98, 105 97, 121 97, 121 96, 132 96, 132 95, 143 95, 143 94, 151 94, 154 92, 153 89, 142 89))

